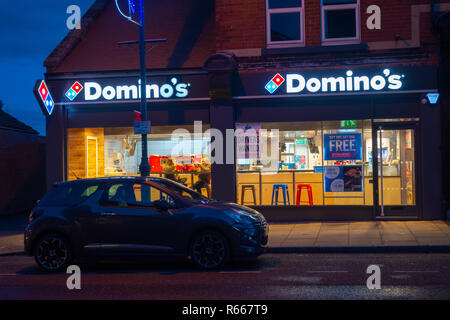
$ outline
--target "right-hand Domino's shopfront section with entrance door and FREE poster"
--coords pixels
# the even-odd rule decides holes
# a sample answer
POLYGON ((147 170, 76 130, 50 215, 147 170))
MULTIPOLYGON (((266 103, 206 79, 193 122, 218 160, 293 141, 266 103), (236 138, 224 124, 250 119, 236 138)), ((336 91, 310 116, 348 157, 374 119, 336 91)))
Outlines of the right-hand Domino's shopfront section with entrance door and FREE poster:
POLYGON ((238 141, 238 202, 280 221, 439 219, 436 88, 427 66, 240 71, 236 125, 276 144, 278 165, 238 141))

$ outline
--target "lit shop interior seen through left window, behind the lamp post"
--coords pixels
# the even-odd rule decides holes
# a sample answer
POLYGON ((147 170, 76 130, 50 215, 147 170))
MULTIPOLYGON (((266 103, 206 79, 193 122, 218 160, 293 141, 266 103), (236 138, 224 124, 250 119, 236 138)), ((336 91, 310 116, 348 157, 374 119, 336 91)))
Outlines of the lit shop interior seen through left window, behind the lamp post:
MULTIPOLYGON (((166 177, 211 192, 210 137, 196 137, 193 126, 152 127, 148 135, 151 175, 166 177), (185 130, 172 139, 174 130, 185 130)), ((103 176, 138 176, 142 154, 141 135, 133 127, 69 128, 68 180, 103 176)))

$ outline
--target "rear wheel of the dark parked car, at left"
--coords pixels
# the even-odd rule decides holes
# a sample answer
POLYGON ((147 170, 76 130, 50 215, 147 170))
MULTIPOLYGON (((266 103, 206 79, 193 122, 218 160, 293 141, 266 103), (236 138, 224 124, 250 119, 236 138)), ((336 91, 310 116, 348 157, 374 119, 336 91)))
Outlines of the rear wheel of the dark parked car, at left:
POLYGON ((72 257, 73 253, 69 242, 59 234, 44 235, 34 247, 36 263, 44 271, 62 271, 72 261, 72 257))

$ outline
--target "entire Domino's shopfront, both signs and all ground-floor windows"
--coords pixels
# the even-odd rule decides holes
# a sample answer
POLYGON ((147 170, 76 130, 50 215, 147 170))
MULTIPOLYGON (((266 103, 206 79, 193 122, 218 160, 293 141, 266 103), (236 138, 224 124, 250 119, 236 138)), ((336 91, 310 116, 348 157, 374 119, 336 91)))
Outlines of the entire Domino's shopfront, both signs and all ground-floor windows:
MULTIPOLYGON (((148 75, 151 175, 254 207, 269 221, 441 217, 435 68, 227 70, 214 58, 204 69, 148 75), (234 163, 215 163, 213 128, 244 132, 234 163), (176 129, 186 133, 181 148, 176 129), (247 130, 258 138, 246 139, 247 130), (275 165, 263 159, 263 140, 275 165)), ((54 101, 50 111, 38 98, 48 115, 49 186, 139 175, 136 72, 47 74, 45 86, 54 101)))

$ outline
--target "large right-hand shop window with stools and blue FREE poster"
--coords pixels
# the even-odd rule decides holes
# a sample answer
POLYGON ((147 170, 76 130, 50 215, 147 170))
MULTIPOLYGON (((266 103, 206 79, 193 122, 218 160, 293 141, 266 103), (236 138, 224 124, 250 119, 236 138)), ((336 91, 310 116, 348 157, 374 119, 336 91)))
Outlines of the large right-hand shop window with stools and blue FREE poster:
MULTIPOLYGON (((264 161, 258 153, 248 153, 244 157, 236 152, 238 203, 263 206, 373 204, 370 166, 367 152, 363 151, 372 134, 370 120, 238 126, 265 129, 267 135, 279 130, 279 139, 268 142, 278 144, 275 169, 262 165, 264 161)), ((260 137, 265 138, 262 134, 260 137)), ((242 146, 251 142, 236 139, 236 150, 257 150, 259 147, 242 146)))

